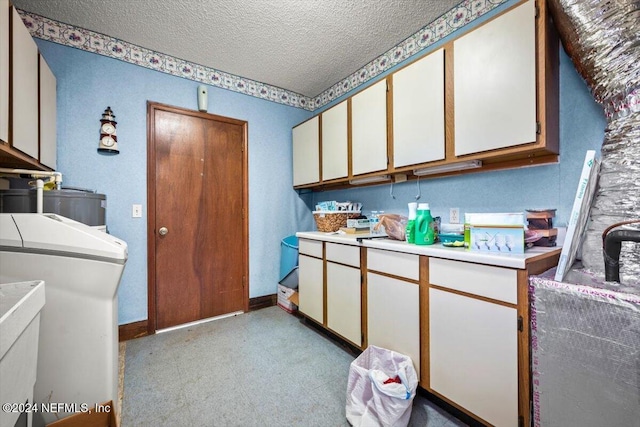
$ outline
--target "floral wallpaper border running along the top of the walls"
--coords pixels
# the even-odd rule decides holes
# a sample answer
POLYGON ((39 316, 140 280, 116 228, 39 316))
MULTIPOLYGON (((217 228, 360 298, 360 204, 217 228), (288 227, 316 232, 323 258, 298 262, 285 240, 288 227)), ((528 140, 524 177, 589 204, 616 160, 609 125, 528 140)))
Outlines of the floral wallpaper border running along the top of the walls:
POLYGON ((151 70, 232 90, 256 98, 315 111, 358 86, 379 76, 391 67, 427 49, 457 29, 479 18, 507 0, 465 0, 402 43, 375 58, 367 65, 334 84, 315 98, 286 89, 225 73, 215 68, 165 55, 84 28, 54 21, 20 10, 22 20, 33 37, 64 46, 97 53, 151 70))

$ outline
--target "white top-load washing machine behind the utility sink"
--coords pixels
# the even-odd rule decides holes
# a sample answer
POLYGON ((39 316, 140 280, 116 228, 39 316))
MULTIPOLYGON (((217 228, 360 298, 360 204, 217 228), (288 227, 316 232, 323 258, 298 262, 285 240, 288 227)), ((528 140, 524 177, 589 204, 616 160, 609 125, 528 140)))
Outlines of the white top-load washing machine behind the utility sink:
MULTIPOLYGON (((0 283, 46 284, 35 402, 78 410, 117 402, 117 290, 126 261, 124 241, 85 224, 55 214, 0 214, 0 283)), ((63 409, 70 411, 35 414, 34 425, 73 413, 63 409)))

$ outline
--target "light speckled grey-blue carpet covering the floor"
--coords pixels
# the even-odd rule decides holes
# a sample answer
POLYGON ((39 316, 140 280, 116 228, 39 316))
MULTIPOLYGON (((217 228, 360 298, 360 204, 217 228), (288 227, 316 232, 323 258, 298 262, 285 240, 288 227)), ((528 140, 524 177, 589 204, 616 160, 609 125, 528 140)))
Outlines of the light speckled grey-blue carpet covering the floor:
MULTIPOLYGON (((122 426, 348 426, 354 356, 279 307, 127 342, 122 426)), ((412 426, 465 424, 422 396, 412 426)))

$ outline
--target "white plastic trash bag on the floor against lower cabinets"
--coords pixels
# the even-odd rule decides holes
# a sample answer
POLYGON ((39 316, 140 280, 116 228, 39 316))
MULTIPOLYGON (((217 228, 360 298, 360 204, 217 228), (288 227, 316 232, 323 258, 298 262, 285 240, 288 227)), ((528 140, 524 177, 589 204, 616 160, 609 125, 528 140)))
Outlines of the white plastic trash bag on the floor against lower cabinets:
POLYGON ((354 427, 406 426, 417 387, 409 356, 370 345, 349 368, 347 420, 354 427))

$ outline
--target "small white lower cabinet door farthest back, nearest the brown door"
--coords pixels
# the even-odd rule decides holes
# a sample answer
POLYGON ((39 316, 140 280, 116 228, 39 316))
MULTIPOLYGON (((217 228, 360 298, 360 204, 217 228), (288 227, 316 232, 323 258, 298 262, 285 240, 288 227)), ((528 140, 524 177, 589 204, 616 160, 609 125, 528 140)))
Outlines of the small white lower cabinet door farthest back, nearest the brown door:
POLYGON ((300 312, 324 323, 323 261, 300 255, 298 260, 298 296, 300 312))

